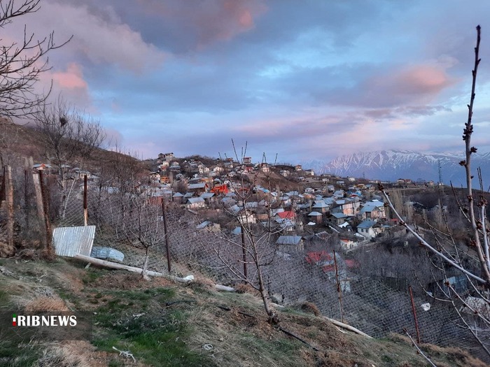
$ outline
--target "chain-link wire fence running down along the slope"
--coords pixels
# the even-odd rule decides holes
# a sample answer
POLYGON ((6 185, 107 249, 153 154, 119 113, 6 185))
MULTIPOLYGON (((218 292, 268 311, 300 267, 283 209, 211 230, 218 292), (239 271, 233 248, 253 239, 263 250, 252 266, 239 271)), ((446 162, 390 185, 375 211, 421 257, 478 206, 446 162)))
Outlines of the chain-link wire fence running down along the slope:
MULTIPOLYGON (((55 187, 52 185, 50 193, 52 208, 57 210, 54 225, 83 226, 83 180, 73 180, 63 194, 56 192, 55 187)), ((229 230, 234 220, 239 226, 237 215, 228 214, 222 207, 214 211, 226 218, 223 220, 226 225, 222 228, 202 225, 205 219, 202 215, 182 208, 180 203, 172 203, 172 196, 165 195, 164 192, 160 196, 151 189, 123 192, 116 187, 89 185, 87 224, 96 226, 94 246, 119 250, 124 254, 123 264, 139 268, 145 264, 148 247, 147 270, 168 273, 168 245, 173 275, 186 276, 195 271, 218 284, 230 286, 243 283, 246 259, 251 263, 247 264, 246 278, 256 281, 259 264, 267 293, 274 303, 297 307, 314 304, 324 316, 343 320, 377 338, 406 330, 414 338, 419 333, 423 343, 460 346, 479 354, 479 345, 468 325, 458 317, 458 311, 464 311, 456 310, 451 303, 424 297, 421 292, 415 292, 412 299, 408 286, 419 289, 415 278, 393 285, 382 277, 367 276, 358 271, 359 264, 346 261, 342 252, 332 254, 318 238, 315 243, 302 240, 300 247, 293 246, 288 251, 276 247, 274 236, 256 236, 259 239, 255 243, 255 255, 259 259, 254 262, 250 238, 229 230), (167 201, 165 218, 162 200, 167 201), (248 249, 245 255, 243 244, 248 249)), ((376 256, 372 251, 372 257, 376 256)), ((478 329, 477 318, 470 317, 467 317, 470 326, 474 326, 480 337, 487 338, 488 332, 478 329)))

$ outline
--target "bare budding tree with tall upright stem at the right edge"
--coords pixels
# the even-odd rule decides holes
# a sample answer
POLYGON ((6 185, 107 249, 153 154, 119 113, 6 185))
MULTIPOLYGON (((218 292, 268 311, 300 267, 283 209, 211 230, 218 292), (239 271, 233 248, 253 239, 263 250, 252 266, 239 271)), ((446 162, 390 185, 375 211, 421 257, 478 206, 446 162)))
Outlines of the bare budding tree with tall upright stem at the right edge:
MULTIPOLYGON (((424 229, 424 233, 430 233, 431 240, 426 239, 426 236, 420 231, 416 231, 410 227, 407 222, 402 219, 402 215, 396 210, 391 196, 384 187, 381 191, 384 194, 386 203, 391 207, 393 213, 401 221, 401 224, 406 227, 419 240, 420 245, 426 248, 430 258, 433 260, 433 272, 441 273, 444 279, 444 284, 438 284, 439 294, 442 301, 451 303, 456 310, 462 326, 470 331, 475 337, 477 343, 482 346, 488 356, 490 356, 490 241, 489 241, 489 222, 486 217, 488 201, 484 195, 482 175, 477 169, 477 177, 479 178, 480 192, 479 194, 472 189, 472 179, 475 173, 472 172, 471 158, 472 154, 477 152, 477 148, 471 145, 473 133, 472 115, 473 103, 475 101, 475 85, 477 78, 477 69, 479 66, 479 43, 480 43, 480 27, 477 26, 477 43, 475 47, 475 65, 472 70, 472 89, 470 103, 468 104, 468 120, 465 122, 463 129, 463 141, 465 142, 465 159, 460 162, 460 165, 465 168, 466 175, 466 203, 458 201, 455 195, 455 200, 458 201, 458 207, 462 215, 468 222, 468 237, 466 244, 461 243, 454 236, 454 232, 458 228, 451 228, 444 210, 442 217, 446 225, 446 231, 442 232, 435 226, 429 226, 424 229), (465 290, 458 289, 454 282, 449 280, 449 270, 451 273, 458 271, 465 277, 468 287, 465 290)), ((437 277, 435 277, 437 278, 437 277)))

